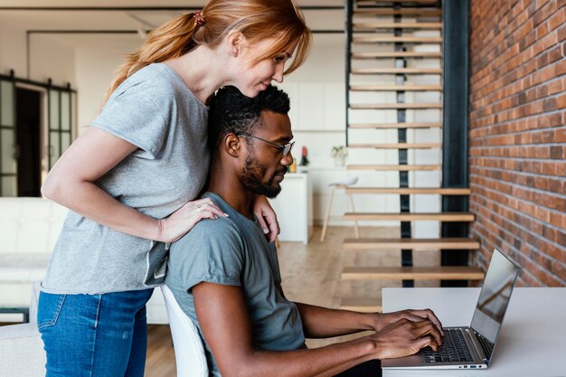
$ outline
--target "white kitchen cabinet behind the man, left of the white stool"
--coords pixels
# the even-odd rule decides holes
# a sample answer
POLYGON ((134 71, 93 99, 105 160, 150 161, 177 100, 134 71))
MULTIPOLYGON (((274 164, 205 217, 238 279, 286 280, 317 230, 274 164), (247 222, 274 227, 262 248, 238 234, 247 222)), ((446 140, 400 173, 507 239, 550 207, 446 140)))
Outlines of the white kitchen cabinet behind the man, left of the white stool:
POLYGON ((270 203, 278 216, 281 241, 308 243, 313 231, 312 188, 307 173, 288 173, 270 203))

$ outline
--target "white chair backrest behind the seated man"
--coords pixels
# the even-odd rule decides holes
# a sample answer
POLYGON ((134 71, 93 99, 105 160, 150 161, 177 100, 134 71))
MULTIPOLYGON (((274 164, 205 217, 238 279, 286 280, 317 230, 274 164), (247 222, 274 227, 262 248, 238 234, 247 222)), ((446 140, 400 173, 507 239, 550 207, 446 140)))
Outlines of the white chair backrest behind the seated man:
POLYGON ((163 285, 161 291, 175 345, 177 377, 208 377, 208 364, 198 329, 191 318, 184 314, 171 289, 163 285))

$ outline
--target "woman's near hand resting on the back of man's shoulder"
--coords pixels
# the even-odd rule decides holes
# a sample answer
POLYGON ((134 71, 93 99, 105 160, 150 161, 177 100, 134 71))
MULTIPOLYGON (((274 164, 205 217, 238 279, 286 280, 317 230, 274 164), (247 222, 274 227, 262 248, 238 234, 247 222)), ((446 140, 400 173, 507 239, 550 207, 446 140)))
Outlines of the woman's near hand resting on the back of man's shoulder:
POLYGON ((158 220, 159 239, 163 242, 175 242, 182 238, 193 226, 203 219, 218 219, 228 215, 212 202, 210 198, 187 202, 169 217, 158 220))

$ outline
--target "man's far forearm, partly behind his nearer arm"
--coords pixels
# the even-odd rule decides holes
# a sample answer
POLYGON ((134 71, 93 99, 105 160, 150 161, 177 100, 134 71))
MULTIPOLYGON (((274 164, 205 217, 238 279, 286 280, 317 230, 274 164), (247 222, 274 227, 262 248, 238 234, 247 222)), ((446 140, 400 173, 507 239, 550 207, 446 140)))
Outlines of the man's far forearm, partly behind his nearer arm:
POLYGON ((303 331, 307 338, 325 338, 373 330, 378 316, 375 313, 357 313, 303 303, 295 304, 301 314, 303 331))

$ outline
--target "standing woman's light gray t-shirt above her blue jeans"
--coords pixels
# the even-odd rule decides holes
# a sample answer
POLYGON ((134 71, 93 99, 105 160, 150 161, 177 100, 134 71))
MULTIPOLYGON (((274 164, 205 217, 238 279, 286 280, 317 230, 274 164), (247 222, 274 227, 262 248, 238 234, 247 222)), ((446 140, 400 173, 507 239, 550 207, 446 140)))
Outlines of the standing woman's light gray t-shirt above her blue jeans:
MULTIPOLYGON (((193 200, 206 182, 207 122, 208 107, 173 69, 156 63, 137 71, 114 91, 92 127, 138 149, 96 184, 139 212, 167 217, 193 200)), ((69 212, 42 289, 99 294, 156 287, 165 280, 166 249, 163 242, 69 212)))

